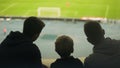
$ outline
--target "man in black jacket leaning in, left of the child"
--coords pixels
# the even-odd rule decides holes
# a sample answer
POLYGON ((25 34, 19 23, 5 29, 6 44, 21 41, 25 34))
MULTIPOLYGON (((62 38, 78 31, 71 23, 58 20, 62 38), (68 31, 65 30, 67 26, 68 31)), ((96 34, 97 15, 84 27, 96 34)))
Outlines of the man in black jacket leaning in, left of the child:
POLYGON ((41 53, 33 42, 44 26, 39 18, 28 17, 23 33, 11 31, 0 44, 0 68, 42 68, 41 53))

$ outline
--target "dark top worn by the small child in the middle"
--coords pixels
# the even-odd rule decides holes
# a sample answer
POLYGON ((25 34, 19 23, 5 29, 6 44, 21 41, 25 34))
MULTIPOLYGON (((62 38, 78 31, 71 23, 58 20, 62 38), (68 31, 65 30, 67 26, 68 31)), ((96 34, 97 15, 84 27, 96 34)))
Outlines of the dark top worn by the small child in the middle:
POLYGON ((74 57, 57 59, 50 68, 83 68, 82 62, 74 57))

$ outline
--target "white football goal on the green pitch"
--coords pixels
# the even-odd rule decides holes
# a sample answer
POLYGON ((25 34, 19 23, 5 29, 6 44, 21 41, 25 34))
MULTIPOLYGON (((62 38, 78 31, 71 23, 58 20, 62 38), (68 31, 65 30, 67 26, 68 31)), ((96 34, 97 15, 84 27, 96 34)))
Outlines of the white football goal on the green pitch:
POLYGON ((39 7, 38 17, 60 17, 61 11, 59 7, 39 7))

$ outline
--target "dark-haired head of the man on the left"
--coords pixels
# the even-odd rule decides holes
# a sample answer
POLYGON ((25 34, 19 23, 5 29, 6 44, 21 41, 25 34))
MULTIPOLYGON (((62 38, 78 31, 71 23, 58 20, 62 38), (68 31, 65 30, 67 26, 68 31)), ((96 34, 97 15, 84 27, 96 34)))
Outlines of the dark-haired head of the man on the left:
POLYGON ((24 21, 23 34, 35 41, 45 24, 37 17, 29 17, 24 21))

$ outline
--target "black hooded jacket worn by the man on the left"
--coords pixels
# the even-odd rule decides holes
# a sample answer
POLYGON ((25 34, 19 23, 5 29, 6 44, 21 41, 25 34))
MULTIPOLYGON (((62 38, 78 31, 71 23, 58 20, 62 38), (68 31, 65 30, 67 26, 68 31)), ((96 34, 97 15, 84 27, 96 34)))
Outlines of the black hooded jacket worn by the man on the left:
POLYGON ((38 47, 20 32, 11 32, 0 44, 0 68, 41 68, 38 47))

